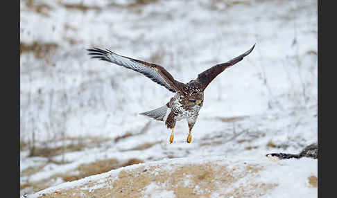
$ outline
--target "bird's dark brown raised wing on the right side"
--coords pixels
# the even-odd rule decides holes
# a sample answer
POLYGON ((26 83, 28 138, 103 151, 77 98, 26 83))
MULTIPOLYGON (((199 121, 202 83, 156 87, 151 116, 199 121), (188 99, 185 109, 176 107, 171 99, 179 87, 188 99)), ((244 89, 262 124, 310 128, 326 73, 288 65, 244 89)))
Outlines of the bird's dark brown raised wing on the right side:
MULTIPOLYGON (((255 44, 254 44, 254 46, 255 46, 255 44)), ((205 90, 206 87, 208 86, 209 82, 211 82, 212 80, 214 80, 214 78, 216 78, 216 75, 219 75, 221 72, 223 72, 228 67, 230 67, 230 66, 236 64, 237 62, 240 62, 241 60, 243 60, 243 57, 245 57, 246 55, 248 55, 252 52, 254 46, 252 46, 252 48, 250 48, 250 50, 246 51, 242 55, 239 55, 238 57, 234 57, 230 61, 227 61, 227 62, 221 63, 221 64, 216 64, 215 66, 212 66, 211 68, 207 69, 206 71, 204 71, 202 73, 199 73, 196 81, 198 81, 199 84, 201 84, 201 89, 205 90)))

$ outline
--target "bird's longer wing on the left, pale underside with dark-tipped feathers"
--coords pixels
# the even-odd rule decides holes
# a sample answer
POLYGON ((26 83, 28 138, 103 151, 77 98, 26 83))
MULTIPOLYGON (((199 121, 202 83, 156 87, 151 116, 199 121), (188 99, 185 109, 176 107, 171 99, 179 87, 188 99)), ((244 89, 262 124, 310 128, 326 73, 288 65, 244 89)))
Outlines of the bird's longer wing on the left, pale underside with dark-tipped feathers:
POLYGON ((100 48, 92 48, 87 49, 87 51, 90 52, 89 55, 92 55, 92 58, 112 62, 127 69, 143 73, 153 82, 157 82, 172 92, 180 90, 180 84, 182 83, 174 80, 173 76, 162 66, 118 55, 108 49, 105 51, 100 48))

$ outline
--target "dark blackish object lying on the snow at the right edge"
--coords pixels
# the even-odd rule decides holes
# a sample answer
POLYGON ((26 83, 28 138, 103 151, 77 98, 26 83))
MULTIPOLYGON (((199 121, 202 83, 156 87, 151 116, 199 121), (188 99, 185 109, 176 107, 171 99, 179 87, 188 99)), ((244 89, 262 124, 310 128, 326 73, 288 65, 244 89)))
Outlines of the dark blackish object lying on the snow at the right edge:
POLYGON ((318 144, 313 143, 307 147, 305 147, 300 154, 286 154, 286 153, 270 153, 266 154, 266 156, 277 156, 279 159, 300 159, 301 157, 310 157, 313 159, 317 159, 318 157, 318 144))

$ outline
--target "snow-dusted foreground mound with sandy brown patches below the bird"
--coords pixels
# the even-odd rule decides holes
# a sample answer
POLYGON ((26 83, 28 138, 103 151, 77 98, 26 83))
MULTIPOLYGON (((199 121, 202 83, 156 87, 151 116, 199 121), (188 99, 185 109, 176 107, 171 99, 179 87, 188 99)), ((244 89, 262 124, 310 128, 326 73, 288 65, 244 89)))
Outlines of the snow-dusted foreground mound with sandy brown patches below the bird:
POLYGON ((317 160, 178 158, 130 165, 28 197, 317 197, 317 160))

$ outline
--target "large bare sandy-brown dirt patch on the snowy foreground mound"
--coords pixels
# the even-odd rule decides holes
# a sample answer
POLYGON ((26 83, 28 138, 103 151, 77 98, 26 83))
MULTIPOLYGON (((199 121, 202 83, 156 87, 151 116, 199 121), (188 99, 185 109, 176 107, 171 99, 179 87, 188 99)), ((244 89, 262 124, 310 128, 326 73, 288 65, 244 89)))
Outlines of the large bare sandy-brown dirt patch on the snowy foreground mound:
MULTIPOLYGON (((170 166, 170 165, 168 165, 170 166)), ((173 168, 173 166, 172 166, 173 168)), ((133 170, 121 170, 118 178, 107 177, 105 187, 89 192, 87 189, 94 183, 84 186, 53 192, 42 197, 143 197, 144 190, 155 182, 159 188, 173 191, 176 197, 210 197, 211 193, 219 188, 228 188, 243 177, 258 177, 263 167, 259 165, 244 165, 242 168, 228 168, 227 165, 212 163, 197 165, 174 165, 174 168, 162 169, 159 165, 145 168, 141 166, 133 170), (188 182, 187 182, 188 181, 188 182), (198 187, 196 187, 198 186, 198 187)), ((242 188, 235 188, 226 195, 238 197, 251 197, 265 195, 272 190, 275 184, 248 183, 242 188)))

